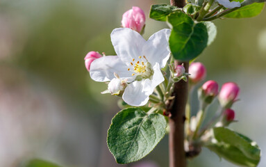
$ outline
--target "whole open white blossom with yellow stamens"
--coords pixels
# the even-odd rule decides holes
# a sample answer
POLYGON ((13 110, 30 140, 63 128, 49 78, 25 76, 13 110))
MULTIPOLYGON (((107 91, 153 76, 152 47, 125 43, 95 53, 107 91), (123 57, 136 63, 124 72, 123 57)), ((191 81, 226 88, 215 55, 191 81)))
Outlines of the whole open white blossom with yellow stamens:
POLYGON ((144 40, 140 33, 127 28, 115 29, 111 40, 117 56, 104 56, 93 61, 90 77, 94 81, 110 81, 114 72, 127 79, 123 100, 131 106, 143 106, 154 88, 162 83, 161 68, 170 56, 169 29, 163 29, 144 40))

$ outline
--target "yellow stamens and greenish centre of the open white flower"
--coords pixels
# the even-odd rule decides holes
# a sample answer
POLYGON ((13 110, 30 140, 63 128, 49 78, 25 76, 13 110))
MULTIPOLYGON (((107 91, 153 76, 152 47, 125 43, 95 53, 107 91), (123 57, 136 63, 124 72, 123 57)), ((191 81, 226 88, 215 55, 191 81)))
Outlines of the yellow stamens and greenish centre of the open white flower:
POLYGON ((149 78, 153 74, 151 63, 149 63, 145 56, 139 56, 138 59, 140 60, 132 59, 131 65, 133 66, 133 70, 128 68, 128 71, 133 72, 132 76, 138 74, 141 77, 149 78))

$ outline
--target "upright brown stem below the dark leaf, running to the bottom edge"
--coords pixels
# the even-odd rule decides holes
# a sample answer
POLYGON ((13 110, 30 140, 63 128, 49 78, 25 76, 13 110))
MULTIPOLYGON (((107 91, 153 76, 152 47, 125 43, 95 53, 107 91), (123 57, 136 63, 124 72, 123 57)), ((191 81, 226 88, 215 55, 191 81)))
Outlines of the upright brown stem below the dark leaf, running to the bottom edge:
MULTIPOLYGON (((188 62, 179 62, 184 64, 185 71, 188 72, 188 62)), ((174 84, 175 96, 174 104, 168 110, 169 118, 169 167, 185 167, 184 150, 184 123, 185 123, 185 105, 188 100, 188 82, 183 80, 174 84)))

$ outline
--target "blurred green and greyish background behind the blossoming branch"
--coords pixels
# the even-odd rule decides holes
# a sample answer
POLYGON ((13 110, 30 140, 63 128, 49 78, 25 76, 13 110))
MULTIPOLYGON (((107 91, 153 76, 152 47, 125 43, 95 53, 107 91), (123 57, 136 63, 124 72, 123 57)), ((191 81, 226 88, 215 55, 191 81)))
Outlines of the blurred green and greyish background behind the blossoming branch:
MULTIPOLYGON (((115 54, 110 32, 121 25, 122 14, 139 6, 148 16, 152 3, 168 1, 0 1, 0 166, 18 166, 33 157, 62 166, 119 166, 106 145, 110 120, 119 111, 117 98, 100 94, 106 84, 90 79, 83 58, 92 50, 115 54)), ((215 21, 217 39, 197 59, 206 65, 207 79, 239 84, 241 101, 233 107, 239 122, 231 127, 263 151, 265 20, 266 10, 258 17, 215 21)), ((163 28, 164 22, 147 17, 144 38, 163 28)), ((197 101, 192 103, 196 112, 197 101)), ((167 139, 143 161, 168 166, 167 139)), ((206 149, 189 164, 234 166, 206 149)), ((266 155, 259 166, 266 166, 266 155)))

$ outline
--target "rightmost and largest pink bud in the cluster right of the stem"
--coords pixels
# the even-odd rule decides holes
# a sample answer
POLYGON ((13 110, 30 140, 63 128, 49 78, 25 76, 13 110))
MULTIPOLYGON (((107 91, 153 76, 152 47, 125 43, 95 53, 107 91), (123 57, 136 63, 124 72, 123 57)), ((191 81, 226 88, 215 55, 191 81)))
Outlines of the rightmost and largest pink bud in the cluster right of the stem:
POLYGON ((221 88, 219 93, 219 102, 225 108, 230 108, 238 97, 240 88, 233 82, 227 82, 221 88))

